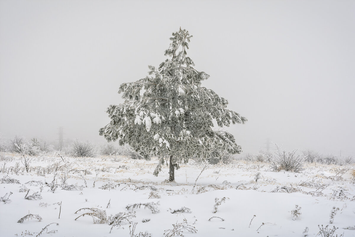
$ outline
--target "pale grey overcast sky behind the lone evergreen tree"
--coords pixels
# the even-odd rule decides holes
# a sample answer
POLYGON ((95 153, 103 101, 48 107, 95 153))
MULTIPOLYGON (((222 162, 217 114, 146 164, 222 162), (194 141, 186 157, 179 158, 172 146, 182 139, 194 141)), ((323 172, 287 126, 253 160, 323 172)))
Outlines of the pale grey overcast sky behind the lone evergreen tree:
POLYGON ((245 153, 355 155, 355 1, 0 0, 0 133, 104 142, 123 82, 165 60, 179 27, 203 86, 248 119, 245 153))

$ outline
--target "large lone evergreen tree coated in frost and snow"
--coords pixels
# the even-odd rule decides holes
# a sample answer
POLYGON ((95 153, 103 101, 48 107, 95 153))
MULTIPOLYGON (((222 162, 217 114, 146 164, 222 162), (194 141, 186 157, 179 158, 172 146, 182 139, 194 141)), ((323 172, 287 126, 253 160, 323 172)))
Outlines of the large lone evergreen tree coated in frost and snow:
POLYGON ((126 100, 107 109, 111 122, 99 131, 108 141, 119 139, 142 154, 168 156, 169 181, 174 181, 174 168, 189 158, 240 153, 234 136, 214 130, 214 122, 223 127, 247 121, 226 108, 226 99, 201 86, 209 75, 194 69, 186 56, 191 37, 180 28, 165 50, 168 59, 158 68, 148 66, 149 76, 120 86, 126 100))

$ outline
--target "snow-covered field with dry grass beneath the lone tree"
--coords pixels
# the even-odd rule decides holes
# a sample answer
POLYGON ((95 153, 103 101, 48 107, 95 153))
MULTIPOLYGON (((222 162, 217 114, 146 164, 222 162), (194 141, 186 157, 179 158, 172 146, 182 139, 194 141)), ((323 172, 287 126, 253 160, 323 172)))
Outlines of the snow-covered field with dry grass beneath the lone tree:
POLYGON ((184 219, 197 231, 185 230, 184 236, 316 236, 318 225, 338 227, 334 237, 355 236, 354 165, 306 163, 302 172, 293 173, 269 171, 267 163, 236 161, 208 165, 201 173, 203 165, 191 162, 175 171, 176 183, 168 183, 164 181, 169 171, 165 165, 158 177, 153 176, 157 162, 121 156, 63 160, 40 156, 32 157, 27 173, 21 156, 4 154, 0 161, 0 236, 37 236, 50 223, 54 224, 40 236, 131 236, 129 222, 107 223, 120 212, 135 212, 136 217, 129 219, 137 223, 132 236, 146 231, 152 237, 169 236, 164 231, 184 219), (11 179, 20 184, 7 183, 14 181, 11 179), (34 193, 41 199, 25 199, 34 193), (140 203, 148 203, 148 207, 126 208, 140 203), (301 214, 292 215, 295 205, 301 214), (185 212, 172 213, 182 207, 185 212), (75 213, 81 208, 90 209, 75 213), (101 215, 101 220, 91 215, 79 217, 84 213, 101 215), (28 214, 42 220, 18 223, 28 214), (142 222, 146 219, 150 221, 142 222))

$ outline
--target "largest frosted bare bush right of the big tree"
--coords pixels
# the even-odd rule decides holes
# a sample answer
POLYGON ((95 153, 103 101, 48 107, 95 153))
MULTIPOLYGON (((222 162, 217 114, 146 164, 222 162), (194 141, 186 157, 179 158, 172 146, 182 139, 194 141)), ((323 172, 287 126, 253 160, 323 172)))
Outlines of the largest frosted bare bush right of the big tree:
POLYGON ((276 146, 275 157, 270 160, 271 168, 274 171, 280 171, 284 169, 285 171, 300 172, 304 163, 304 158, 301 155, 297 155, 297 149, 293 151, 283 151, 281 147, 276 146))

